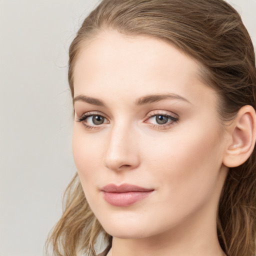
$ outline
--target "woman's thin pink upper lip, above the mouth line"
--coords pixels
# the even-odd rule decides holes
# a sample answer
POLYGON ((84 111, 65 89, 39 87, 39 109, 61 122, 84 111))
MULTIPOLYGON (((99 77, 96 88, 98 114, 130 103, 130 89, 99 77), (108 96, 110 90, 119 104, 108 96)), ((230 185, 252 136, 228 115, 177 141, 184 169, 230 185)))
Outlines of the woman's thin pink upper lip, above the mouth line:
POLYGON ((115 185, 113 183, 107 184, 101 189, 104 192, 111 192, 111 193, 125 193, 125 192, 131 192, 131 191, 137 191, 137 192, 148 192, 152 191, 154 189, 152 188, 145 188, 137 185, 132 184, 121 184, 121 185, 115 185))

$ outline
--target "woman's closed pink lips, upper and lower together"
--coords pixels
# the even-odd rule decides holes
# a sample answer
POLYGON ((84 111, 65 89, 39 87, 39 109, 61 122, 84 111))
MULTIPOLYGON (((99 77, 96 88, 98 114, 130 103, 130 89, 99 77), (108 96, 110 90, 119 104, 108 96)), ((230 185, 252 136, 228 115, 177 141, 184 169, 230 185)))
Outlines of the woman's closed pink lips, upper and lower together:
POLYGON ((113 206, 129 206, 143 198, 146 198, 154 189, 132 184, 107 184, 102 187, 103 198, 113 206))

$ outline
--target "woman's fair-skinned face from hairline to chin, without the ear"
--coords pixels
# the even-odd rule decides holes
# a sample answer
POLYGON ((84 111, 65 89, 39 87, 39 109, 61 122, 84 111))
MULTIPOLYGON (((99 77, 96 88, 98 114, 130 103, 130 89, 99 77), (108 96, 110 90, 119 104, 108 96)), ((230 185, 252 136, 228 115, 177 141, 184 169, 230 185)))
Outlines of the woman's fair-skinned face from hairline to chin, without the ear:
POLYGON ((74 68, 73 156, 111 235, 215 225, 227 168, 216 94, 198 64, 150 37, 105 31, 74 68))

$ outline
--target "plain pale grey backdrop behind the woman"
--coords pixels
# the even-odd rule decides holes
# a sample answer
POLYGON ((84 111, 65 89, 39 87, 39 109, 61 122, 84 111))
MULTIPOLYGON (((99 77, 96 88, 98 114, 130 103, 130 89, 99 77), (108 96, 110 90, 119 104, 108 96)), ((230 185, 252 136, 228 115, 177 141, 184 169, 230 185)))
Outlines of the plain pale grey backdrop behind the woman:
MULTIPOLYGON (((41 256, 75 173, 67 51, 98 0, 0 0, 0 256, 41 256)), ((228 0, 256 45, 256 0, 228 0)))

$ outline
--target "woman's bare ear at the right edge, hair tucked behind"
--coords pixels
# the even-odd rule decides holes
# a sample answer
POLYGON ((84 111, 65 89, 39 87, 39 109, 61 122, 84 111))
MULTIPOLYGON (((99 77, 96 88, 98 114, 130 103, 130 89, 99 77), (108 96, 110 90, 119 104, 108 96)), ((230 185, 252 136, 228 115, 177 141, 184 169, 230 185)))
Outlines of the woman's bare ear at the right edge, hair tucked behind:
POLYGON ((254 148, 256 114, 252 106, 245 105, 239 109, 228 127, 228 135, 230 140, 223 156, 223 164, 227 167, 236 167, 249 158, 254 148))

